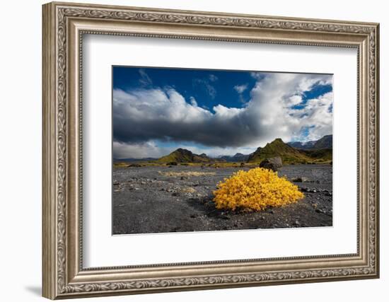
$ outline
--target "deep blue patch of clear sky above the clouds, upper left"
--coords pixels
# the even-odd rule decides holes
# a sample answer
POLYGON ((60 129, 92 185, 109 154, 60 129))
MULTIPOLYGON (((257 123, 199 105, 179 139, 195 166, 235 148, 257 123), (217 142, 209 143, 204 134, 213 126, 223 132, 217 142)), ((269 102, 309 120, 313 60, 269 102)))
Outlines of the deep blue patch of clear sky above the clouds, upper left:
POLYGON ((203 69, 165 69, 115 66, 113 87, 124 91, 137 88, 172 87, 186 99, 193 97, 200 107, 222 104, 242 108, 250 98, 250 88, 256 80, 248 71, 203 69), (240 88, 238 88, 240 86, 240 88), (236 88, 234 88, 236 87, 236 88), (243 90, 243 88, 245 88, 243 90), (238 93, 237 90, 242 91, 238 93))

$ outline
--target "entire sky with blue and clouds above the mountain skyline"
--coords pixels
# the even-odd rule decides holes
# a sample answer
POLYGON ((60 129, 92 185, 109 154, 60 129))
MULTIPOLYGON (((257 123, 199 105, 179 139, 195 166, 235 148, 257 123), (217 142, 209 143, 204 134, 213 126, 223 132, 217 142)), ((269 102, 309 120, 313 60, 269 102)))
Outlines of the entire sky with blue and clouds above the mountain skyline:
POLYGON ((332 134, 332 75, 113 66, 114 158, 250 153, 332 134))

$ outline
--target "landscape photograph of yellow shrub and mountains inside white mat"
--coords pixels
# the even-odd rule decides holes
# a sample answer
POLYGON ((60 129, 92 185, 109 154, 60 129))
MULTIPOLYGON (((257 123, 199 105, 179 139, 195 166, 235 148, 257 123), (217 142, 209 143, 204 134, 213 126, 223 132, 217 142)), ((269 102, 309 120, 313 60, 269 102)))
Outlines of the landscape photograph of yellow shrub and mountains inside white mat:
POLYGON ((112 66, 112 234, 332 226, 332 78, 112 66))

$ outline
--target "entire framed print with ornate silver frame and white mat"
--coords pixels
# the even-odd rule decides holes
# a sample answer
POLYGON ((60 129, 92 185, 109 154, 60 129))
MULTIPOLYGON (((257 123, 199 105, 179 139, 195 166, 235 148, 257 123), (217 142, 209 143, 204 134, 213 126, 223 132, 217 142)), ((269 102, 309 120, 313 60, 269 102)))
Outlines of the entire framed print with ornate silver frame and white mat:
POLYGON ((379 276, 378 24, 43 6, 43 296, 379 276))

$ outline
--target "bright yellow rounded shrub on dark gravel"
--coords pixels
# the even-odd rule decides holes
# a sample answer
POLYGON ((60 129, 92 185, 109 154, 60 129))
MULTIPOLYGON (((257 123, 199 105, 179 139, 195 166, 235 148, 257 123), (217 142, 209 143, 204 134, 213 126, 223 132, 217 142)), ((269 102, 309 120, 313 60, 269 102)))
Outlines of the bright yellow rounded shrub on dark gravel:
POLYGON ((266 207, 279 207, 302 199, 298 187, 277 172, 254 168, 247 172, 239 170, 224 182, 219 182, 214 191, 216 209, 236 208, 261 211, 266 207))

